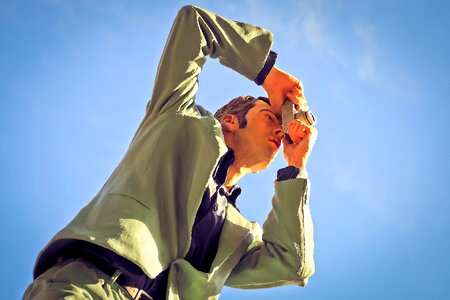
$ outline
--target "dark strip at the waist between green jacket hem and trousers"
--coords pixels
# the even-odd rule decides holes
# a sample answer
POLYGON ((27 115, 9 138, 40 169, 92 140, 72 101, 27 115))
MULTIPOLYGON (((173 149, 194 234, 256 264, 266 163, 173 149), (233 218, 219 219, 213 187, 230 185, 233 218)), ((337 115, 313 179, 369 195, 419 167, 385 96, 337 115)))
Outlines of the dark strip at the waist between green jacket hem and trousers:
POLYGON ((110 250, 87 242, 76 242, 74 247, 65 249, 60 257, 81 258, 111 277, 111 281, 122 286, 133 299, 153 300, 146 292, 152 280, 142 271, 139 272, 136 265, 110 250))

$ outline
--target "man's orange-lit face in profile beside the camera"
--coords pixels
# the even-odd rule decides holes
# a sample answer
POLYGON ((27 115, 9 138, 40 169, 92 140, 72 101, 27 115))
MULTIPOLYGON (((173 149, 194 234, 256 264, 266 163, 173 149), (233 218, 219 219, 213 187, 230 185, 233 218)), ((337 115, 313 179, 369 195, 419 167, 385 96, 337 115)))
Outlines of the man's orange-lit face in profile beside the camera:
POLYGON ((264 101, 258 100, 246 115, 247 126, 236 132, 237 157, 253 172, 267 168, 284 137, 281 117, 264 101))

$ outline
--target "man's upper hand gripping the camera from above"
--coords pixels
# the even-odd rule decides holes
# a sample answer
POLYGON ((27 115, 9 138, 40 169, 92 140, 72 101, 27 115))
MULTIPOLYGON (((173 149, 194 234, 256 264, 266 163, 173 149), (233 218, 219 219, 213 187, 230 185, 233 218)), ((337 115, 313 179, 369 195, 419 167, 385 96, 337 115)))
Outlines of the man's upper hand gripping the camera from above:
POLYGON ((308 110, 303 84, 291 74, 273 66, 262 86, 269 96, 271 106, 280 115, 286 98, 291 99, 299 109, 308 110))

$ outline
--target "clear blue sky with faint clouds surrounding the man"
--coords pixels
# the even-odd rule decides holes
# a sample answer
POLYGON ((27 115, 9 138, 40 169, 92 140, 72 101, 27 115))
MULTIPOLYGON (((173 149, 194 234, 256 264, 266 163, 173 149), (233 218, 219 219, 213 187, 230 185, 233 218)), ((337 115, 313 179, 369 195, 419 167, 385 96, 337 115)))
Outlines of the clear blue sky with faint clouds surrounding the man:
MULTIPOLYGON (((196 4, 274 32, 319 139, 308 163, 316 274, 306 288, 221 299, 450 297, 448 1, 0 1, 2 294, 120 161, 143 117, 173 18, 196 4)), ((209 60, 211 111, 263 90, 209 60)), ((272 166, 241 182, 263 223, 272 166)))

